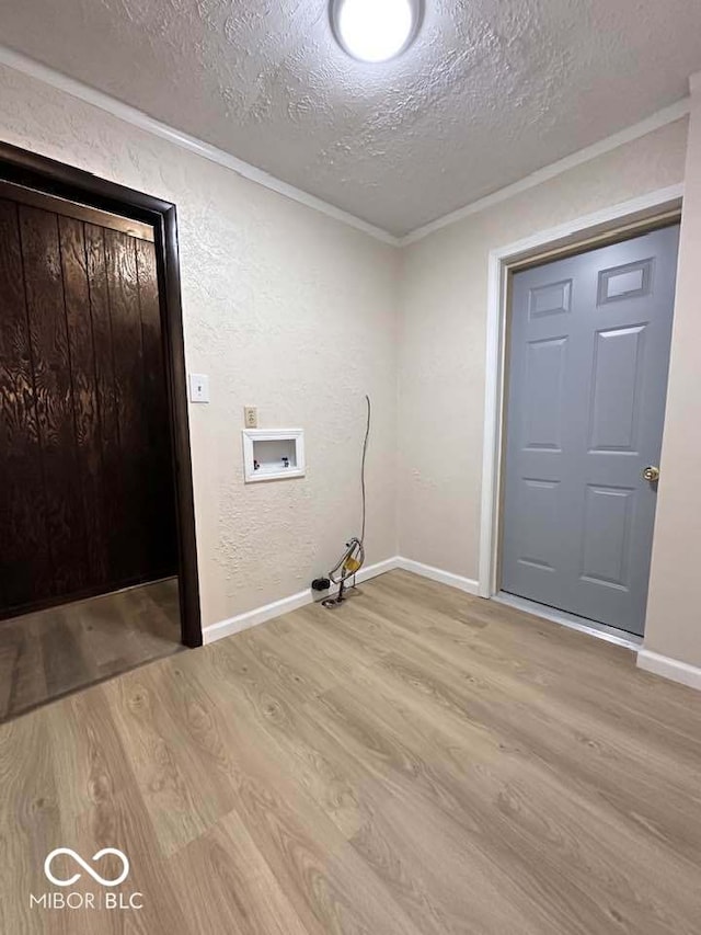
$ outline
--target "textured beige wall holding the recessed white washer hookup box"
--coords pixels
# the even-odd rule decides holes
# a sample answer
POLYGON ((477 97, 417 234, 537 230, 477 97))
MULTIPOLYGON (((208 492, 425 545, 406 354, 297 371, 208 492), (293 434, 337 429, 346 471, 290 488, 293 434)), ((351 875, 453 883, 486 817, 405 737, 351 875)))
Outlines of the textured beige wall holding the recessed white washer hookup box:
POLYGON ((398 251, 7 68, 0 137, 177 204, 203 623, 302 590, 359 528, 372 397, 368 562, 397 554, 398 251), (303 426, 304 479, 243 483, 242 407, 303 426))

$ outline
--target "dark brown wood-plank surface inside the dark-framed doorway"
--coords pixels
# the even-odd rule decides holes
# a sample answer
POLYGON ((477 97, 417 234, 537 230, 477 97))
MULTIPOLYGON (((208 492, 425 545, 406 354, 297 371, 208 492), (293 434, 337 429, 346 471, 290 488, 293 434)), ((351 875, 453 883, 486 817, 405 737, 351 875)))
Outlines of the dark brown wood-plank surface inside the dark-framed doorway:
POLYGON ((153 243, 26 202, 0 197, 4 617, 177 565, 153 243))

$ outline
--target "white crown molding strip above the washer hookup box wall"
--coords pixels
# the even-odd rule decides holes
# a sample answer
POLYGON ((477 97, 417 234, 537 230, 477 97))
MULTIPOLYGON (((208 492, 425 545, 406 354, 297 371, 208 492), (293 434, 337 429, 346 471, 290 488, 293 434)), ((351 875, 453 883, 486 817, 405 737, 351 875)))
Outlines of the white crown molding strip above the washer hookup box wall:
POLYGON ((189 152, 194 152, 196 156, 202 156, 204 159, 208 159, 210 162, 216 162, 218 166, 231 169, 238 175, 241 175, 243 179, 248 179, 250 182, 263 185, 265 189, 277 192, 278 195, 284 195, 286 198, 298 202, 306 207, 313 208, 334 220, 340 220, 348 227, 354 227, 356 230, 360 230, 364 233, 374 237, 376 240, 382 241, 382 243, 389 243, 392 247, 399 246, 399 238, 389 233, 389 231, 382 230, 359 217, 355 217, 355 215, 348 214, 347 212, 335 207, 335 205, 324 202, 322 198, 310 195, 309 192, 296 189, 294 185, 289 185, 287 182, 283 182, 280 179, 276 179, 274 175, 264 172, 262 169, 257 169, 249 162, 237 159, 235 156, 225 152, 223 149, 219 149, 218 147, 211 146, 202 139, 189 136, 189 134, 161 123, 154 117, 145 114, 142 111, 139 111, 129 104, 125 104, 116 98, 112 98, 110 94, 97 91, 89 84, 84 84, 82 81, 78 81, 60 71, 56 71, 54 68, 42 65, 39 61, 36 61, 22 53, 15 52, 8 46, 0 45, 0 65, 5 65, 8 68, 21 71, 30 78, 43 81, 45 84, 49 84, 58 91, 64 91, 72 98, 78 98, 87 104, 100 107, 100 110, 106 111, 108 114, 112 114, 112 116, 131 124, 131 126, 138 127, 139 129, 146 130, 147 133, 153 134, 168 142, 172 142, 181 149, 186 149, 189 152))

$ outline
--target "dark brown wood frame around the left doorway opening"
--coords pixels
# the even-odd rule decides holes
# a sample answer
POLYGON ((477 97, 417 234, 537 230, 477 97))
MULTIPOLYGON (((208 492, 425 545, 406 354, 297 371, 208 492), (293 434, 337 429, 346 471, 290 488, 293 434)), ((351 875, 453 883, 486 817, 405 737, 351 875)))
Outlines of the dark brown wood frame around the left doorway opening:
POLYGON ((182 641, 202 646, 175 205, 7 142, 0 142, 0 180, 153 227, 173 443, 182 641))

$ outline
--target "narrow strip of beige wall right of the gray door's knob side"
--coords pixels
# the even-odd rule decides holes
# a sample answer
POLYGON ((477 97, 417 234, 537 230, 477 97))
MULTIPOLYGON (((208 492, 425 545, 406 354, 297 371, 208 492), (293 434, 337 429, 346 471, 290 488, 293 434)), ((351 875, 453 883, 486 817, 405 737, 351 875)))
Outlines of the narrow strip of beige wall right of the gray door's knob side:
POLYGON ((691 100, 645 649, 701 666, 701 76, 691 100))

